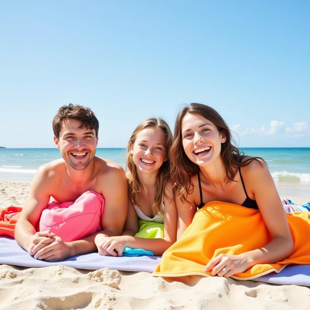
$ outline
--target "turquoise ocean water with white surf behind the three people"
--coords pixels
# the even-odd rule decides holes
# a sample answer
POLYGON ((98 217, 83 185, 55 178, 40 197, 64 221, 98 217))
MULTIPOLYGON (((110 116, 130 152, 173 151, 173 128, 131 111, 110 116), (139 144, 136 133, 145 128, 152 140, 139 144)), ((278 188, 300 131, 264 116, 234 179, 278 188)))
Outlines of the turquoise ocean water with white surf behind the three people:
MULTIPOLYGON (((310 148, 241 148, 241 151, 262 157, 276 184, 292 184, 310 192, 310 148)), ((97 148, 96 155, 125 168, 125 148, 97 148)), ((0 148, 0 179, 31 180, 40 165, 60 157, 56 148, 0 148)))

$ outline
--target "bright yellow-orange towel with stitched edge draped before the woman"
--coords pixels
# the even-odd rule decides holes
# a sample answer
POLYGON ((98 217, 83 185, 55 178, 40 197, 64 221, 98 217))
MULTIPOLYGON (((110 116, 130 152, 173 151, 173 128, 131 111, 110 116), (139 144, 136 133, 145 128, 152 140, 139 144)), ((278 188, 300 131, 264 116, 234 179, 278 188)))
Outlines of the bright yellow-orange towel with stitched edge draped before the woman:
MULTIPOLYGON (((294 241, 292 255, 281 262, 257 264, 235 279, 250 280, 269 272, 279 272, 286 264, 310 264, 310 212, 286 215, 294 241)), ((204 268, 210 259, 224 253, 237 255, 265 246, 271 241, 258 210, 232 203, 211 201, 198 210, 192 224, 162 256, 156 277, 208 276, 204 268)))

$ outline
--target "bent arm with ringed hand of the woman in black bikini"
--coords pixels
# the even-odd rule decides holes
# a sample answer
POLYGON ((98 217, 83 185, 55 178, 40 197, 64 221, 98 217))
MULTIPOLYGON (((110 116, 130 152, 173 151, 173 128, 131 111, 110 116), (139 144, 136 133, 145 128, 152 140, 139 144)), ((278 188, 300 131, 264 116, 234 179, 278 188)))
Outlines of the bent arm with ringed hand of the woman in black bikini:
POLYGON ((266 246, 240 255, 219 255, 212 259, 205 271, 213 268, 211 275, 230 277, 255 264, 275 263, 293 251, 293 239, 283 206, 267 165, 254 160, 242 168, 248 195, 255 196, 263 220, 272 237, 266 246), (261 164, 260 164, 261 163, 261 164), (224 271, 223 271, 223 268, 224 271))

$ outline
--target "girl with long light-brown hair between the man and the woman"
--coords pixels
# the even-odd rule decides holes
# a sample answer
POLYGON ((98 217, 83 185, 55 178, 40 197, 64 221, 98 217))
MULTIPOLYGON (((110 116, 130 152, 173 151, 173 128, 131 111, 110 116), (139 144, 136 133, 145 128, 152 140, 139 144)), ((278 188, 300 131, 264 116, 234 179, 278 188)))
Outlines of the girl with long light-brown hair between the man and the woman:
POLYGON ((132 133, 127 146, 129 206, 122 236, 97 235, 100 255, 122 256, 125 247, 163 252, 176 240, 177 210, 169 180, 172 133, 162 118, 148 118, 132 133), (164 237, 135 237, 138 219, 164 224, 164 237))

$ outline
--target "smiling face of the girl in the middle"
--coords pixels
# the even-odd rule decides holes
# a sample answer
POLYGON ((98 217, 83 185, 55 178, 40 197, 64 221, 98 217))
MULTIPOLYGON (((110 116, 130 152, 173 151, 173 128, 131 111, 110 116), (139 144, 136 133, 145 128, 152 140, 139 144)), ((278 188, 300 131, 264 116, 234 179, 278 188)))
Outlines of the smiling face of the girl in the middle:
POLYGON ((152 173, 159 170, 167 160, 165 135, 160 128, 147 127, 139 131, 130 152, 137 171, 152 173))

